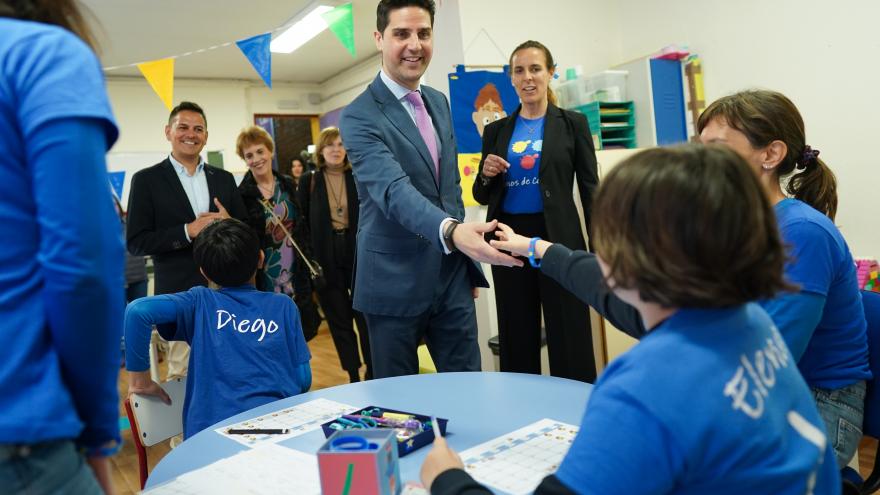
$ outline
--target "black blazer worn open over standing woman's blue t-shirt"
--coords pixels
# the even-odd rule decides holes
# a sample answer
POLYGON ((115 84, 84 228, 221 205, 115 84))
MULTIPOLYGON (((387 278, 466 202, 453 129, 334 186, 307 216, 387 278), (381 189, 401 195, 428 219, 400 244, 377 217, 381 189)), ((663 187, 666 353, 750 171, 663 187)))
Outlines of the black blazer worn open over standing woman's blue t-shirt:
MULTIPOLYGON (((507 188, 504 186, 504 174, 492 177, 488 184, 483 185, 483 163, 490 153, 507 159, 510 139, 521 108, 517 108, 512 115, 489 124, 483 131, 483 157, 473 192, 478 203, 489 205, 486 221, 498 218, 507 188)), ((585 249, 572 198, 573 180, 577 178, 581 204, 584 207, 585 227, 589 234, 593 194, 599 184, 599 175, 590 125, 583 114, 563 110, 552 104, 547 107, 538 178, 544 200, 544 223, 549 237, 547 240, 559 242, 570 249, 585 249)))

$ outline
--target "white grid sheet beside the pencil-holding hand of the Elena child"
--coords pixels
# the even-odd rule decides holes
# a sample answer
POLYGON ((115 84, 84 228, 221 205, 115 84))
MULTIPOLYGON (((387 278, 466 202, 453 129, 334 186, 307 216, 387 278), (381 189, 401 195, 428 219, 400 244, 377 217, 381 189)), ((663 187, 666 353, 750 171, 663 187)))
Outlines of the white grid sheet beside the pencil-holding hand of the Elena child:
POLYGON ((465 470, 480 483, 513 495, 532 493, 555 473, 578 427, 542 419, 461 453, 465 470))

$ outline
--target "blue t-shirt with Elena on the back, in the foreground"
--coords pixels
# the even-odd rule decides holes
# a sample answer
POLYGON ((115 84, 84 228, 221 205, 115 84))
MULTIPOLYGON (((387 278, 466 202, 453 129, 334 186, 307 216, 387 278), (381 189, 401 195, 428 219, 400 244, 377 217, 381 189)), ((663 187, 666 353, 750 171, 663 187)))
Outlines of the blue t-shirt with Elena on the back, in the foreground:
POLYGON ((582 494, 836 494, 813 397, 757 304, 680 309, 614 360, 556 473, 582 494))

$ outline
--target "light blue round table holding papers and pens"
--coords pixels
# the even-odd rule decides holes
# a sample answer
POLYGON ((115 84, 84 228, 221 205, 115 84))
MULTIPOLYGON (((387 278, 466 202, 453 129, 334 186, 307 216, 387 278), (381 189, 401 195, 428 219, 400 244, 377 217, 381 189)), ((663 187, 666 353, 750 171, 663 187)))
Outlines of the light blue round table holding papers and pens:
MULTIPOLYGON (((214 429, 318 398, 447 418, 447 441, 461 452, 543 418, 579 425, 591 389, 592 385, 563 378, 496 372, 410 375, 340 385, 266 404, 199 432, 156 465, 146 488, 247 448, 214 429)), ((317 429, 280 445, 315 453, 324 441, 317 429)), ((429 450, 425 446, 400 459, 403 482, 419 479, 429 450)))

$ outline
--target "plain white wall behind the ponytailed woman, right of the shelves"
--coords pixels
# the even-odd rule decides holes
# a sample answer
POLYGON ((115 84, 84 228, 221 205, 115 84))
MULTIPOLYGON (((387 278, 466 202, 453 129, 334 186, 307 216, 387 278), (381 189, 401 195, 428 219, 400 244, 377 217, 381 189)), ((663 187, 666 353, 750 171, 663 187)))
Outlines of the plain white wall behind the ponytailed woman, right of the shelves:
POLYGON ((706 98, 750 87, 800 109, 807 143, 838 178, 840 226, 855 256, 880 257, 874 143, 880 114, 880 3, 873 0, 618 0, 621 60, 670 43, 703 57, 706 98))

